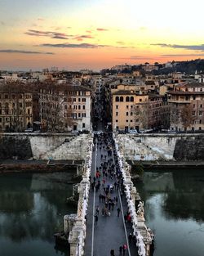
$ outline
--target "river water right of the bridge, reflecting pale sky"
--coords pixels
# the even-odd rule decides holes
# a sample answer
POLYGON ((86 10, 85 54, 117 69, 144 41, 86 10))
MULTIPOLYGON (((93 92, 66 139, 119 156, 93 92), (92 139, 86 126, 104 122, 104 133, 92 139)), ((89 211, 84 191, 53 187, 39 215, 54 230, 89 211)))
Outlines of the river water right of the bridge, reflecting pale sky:
POLYGON ((153 255, 203 256, 204 172, 144 173, 144 183, 135 186, 155 235, 153 255))

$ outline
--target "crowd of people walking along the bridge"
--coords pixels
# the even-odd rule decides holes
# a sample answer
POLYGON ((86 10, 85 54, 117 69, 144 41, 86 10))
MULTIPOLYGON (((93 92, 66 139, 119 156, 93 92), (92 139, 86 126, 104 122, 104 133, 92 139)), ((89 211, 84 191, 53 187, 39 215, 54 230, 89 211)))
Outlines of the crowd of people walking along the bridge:
MULTIPOLYGON (((112 133, 104 132, 95 134, 95 145, 98 145, 98 158, 100 164, 95 167, 95 175, 90 176, 91 189, 98 196, 99 204, 95 207, 95 226, 98 226, 99 218, 109 218, 112 215, 120 217, 122 211, 120 197, 124 194, 122 172, 119 168, 118 157, 114 148, 112 133), (101 216, 101 217, 100 217, 101 216)), ((131 213, 126 212, 123 216, 125 222, 131 222, 131 213)), ((135 240, 131 234, 129 242, 135 240)), ((119 255, 126 255, 127 245, 119 245, 119 255)), ((115 250, 110 250, 110 255, 115 255, 115 250)))

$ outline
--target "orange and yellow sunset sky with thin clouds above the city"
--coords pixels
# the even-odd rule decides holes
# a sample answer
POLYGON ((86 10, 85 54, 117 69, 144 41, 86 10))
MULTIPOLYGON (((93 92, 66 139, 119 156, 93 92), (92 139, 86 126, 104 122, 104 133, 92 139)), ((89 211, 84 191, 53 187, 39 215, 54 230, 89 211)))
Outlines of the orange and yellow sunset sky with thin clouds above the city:
POLYGON ((204 57, 203 0, 0 0, 0 70, 204 57))

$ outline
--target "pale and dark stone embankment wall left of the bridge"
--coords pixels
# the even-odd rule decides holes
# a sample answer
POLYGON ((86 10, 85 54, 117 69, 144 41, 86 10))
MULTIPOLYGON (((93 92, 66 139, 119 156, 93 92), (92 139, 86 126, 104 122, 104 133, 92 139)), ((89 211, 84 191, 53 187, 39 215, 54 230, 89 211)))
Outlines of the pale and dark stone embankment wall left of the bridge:
POLYGON ((2 133, 0 159, 85 159, 91 134, 2 133))

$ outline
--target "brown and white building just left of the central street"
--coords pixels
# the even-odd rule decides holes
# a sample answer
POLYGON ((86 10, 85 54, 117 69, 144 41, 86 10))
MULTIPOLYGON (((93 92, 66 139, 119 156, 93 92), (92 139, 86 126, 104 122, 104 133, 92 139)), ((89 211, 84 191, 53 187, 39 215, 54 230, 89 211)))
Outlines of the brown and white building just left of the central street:
POLYGON ((52 132, 91 131, 91 90, 70 84, 39 86, 40 122, 52 132))

